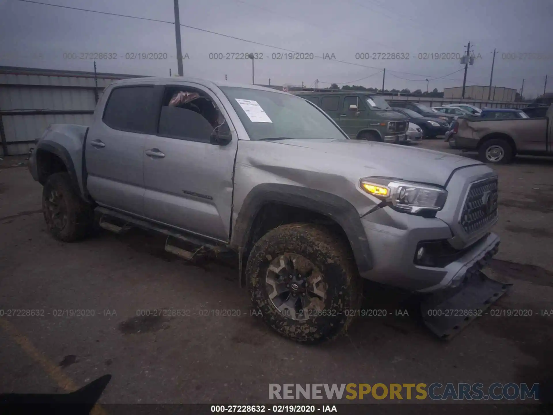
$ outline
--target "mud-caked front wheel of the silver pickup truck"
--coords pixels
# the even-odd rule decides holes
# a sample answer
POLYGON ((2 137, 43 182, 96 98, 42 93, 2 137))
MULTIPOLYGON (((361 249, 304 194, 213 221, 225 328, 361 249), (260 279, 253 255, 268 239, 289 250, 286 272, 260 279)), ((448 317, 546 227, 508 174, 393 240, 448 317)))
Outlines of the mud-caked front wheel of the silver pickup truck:
POLYGON ((335 338, 361 305, 351 251, 324 226, 289 224, 269 231, 255 243, 246 273, 256 312, 296 341, 335 338))

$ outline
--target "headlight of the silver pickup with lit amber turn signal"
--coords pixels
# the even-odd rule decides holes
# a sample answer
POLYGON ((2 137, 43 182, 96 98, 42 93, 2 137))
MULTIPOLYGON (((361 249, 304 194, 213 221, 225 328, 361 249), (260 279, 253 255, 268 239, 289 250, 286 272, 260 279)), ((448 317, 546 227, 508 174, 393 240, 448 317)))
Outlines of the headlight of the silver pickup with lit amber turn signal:
POLYGON ((435 186, 410 183, 393 178, 367 177, 359 182, 361 189, 390 204, 395 210, 418 214, 444 207, 447 191, 435 186))

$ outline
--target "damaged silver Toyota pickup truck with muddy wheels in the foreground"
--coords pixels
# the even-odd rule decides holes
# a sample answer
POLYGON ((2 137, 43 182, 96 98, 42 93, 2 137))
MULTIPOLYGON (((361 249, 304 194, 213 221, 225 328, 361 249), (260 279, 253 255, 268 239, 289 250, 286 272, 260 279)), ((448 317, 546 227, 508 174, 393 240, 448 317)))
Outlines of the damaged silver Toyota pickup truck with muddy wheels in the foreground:
POLYGON ((499 245, 483 163, 348 139, 313 103, 253 85, 115 82, 90 127, 46 129, 29 168, 54 237, 142 227, 189 260, 237 253, 253 307, 310 343, 359 315, 363 278, 458 292, 499 245))

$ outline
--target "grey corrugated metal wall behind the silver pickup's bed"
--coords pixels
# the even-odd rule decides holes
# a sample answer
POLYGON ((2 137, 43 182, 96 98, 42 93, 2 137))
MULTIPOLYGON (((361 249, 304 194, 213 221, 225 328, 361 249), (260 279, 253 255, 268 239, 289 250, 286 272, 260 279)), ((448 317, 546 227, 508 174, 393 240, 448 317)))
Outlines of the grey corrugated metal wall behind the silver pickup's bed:
POLYGON ((90 125, 105 87, 138 76, 0 66, 0 154, 27 154, 50 124, 90 125))

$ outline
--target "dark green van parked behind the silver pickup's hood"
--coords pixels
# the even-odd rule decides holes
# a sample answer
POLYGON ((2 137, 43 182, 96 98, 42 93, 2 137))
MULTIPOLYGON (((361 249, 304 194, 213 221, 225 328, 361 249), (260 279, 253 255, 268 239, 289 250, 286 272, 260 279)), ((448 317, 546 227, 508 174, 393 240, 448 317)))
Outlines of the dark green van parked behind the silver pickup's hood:
POLYGON ((319 106, 353 139, 399 143, 406 140, 408 119, 380 95, 366 91, 292 92, 319 106))

